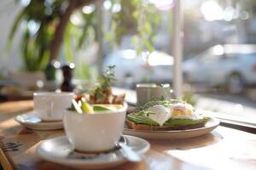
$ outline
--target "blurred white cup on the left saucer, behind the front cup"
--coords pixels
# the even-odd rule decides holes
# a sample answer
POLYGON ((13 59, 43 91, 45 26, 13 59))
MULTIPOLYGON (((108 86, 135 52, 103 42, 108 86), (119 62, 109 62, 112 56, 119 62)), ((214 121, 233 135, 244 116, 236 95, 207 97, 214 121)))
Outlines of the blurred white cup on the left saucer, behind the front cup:
POLYGON ((61 121, 63 111, 72 105, 73 93, 38 92, 33 94, 34 111, 44 121, 61 121))

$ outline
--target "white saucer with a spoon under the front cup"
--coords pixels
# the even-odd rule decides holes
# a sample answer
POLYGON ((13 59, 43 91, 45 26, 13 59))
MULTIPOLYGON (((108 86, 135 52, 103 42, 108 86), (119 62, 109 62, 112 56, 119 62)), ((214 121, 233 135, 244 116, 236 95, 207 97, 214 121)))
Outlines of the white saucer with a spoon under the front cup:
MULTIPOLYGON (((127 144, 138 154, 143 154, 150 148, 150 144, 144 139, 127 135, 124 135, 124 137, 127 144)), ((103 169, 117 167, 126 161, 120 150, 101 154, 84 154, 73 151, 73 147, 66 136, 42 142, 38 145, 37 153, 46 161, 74 168, 103 169)))

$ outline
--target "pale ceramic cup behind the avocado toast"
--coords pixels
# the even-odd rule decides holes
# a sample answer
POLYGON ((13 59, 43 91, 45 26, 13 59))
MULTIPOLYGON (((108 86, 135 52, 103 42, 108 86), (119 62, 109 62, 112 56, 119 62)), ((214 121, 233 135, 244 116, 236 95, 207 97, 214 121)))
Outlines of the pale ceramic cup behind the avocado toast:
POLYGON ((154 83, 140 83, 136 86, 137 105, 144 105, 151 99, 172 99, 172 88, 169 84, 162 86, 154 83))

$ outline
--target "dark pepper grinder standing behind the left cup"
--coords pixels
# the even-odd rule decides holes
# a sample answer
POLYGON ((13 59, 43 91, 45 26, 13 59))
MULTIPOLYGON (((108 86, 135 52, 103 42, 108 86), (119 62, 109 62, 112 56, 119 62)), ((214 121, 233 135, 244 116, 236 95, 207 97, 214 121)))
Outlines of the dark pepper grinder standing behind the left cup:
POLYGON ((73 88, 74 88, 72 84, 73 69, 74 69, 73 63, 69 65, 64 65, 61 67, 61 71, 63 74, 63 82, 61 84, 62 92, 73 92, 73 88))

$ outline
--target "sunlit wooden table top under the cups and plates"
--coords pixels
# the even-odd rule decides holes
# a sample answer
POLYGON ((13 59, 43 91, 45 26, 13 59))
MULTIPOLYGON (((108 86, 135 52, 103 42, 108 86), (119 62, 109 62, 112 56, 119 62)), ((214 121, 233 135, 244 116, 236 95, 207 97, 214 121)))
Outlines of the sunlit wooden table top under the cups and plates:
MULTIPOLYGON (((6 169, 69 169, 44 161, 35 149, 44 139, 64 135, 62 130, 33 131, 20 126, 13 117, 32 110, 32 101, 0 104, 1 162, 6 169), (10 151, 7 146, 15 146, 10 151)), ((173 141, 149 141, 151 149, 140 163, 125 163, 115 169, 256 169, 256 135, 228 127, 212 133, 173 141)))

